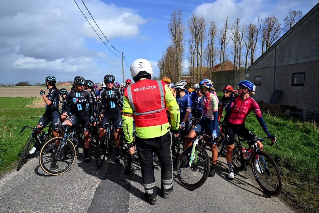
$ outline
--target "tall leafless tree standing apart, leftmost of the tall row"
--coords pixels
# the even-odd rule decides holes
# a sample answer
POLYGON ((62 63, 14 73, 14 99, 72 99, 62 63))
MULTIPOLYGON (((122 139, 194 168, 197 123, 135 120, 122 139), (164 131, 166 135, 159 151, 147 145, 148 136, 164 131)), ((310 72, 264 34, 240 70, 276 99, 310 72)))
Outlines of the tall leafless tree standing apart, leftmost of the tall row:
POLYGON ((185 36, 185 27, 183 25, 183 14, 182 10, 174 10, 174 12, 171 14, 171 19, 168 23, 168 31, 171 35, 172 42, 175 46, 175 52, 176 52, 176 74, 177 79, 181 79, 181 59, 183 56, 184 46, 183 46, 183 39, 185 36))

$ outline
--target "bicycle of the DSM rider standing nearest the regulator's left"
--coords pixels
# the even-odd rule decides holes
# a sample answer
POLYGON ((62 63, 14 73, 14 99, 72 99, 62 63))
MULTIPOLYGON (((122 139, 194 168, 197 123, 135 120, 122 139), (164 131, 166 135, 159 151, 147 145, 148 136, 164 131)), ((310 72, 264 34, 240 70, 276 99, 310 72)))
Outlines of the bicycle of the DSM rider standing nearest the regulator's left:
POLYGON ((106 131, 105 131, 100 143, 99 143, 97 156, 96 156, 96 168, 98 168, 98 169, 101 168, 101 166, 104 162, 105 156, 107 154, 110 154, 112 149, 113 149, 114 142, 115 142, 115 139, 113 136, 114 129, 115 129, 115 133, 117 133, 115 124, 113 122, 110 122, 108 124, 108 127, 106 128, 106 131))

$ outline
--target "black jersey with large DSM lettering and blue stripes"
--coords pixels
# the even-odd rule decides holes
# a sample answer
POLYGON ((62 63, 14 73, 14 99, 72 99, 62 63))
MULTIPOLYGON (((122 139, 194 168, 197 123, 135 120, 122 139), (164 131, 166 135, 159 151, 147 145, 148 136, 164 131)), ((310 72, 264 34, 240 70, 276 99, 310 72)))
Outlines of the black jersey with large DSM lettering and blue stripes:
MULTIPOLYGON (((66 95, 65 103, 67 105, 73 106, 72 113, 78 116, 84 116, 84 113, 87 114, 85 112, 85 106, 87 103, 89 103, 89 115, 93 116, 93 99, 91 93, 87 90, 83 90, 81 92, 76 92, 75 90, 70 91, 66 95)), ((69 107, 65 107, 65 109, 68 111, 68 113, 71 112, 69 107)))

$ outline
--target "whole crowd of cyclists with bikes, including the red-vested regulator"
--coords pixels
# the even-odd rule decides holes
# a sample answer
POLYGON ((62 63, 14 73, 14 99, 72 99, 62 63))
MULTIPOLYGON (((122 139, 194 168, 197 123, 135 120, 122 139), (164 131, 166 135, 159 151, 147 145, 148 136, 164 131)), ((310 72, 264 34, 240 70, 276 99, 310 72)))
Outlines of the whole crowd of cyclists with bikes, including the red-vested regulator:
POLYGON ((250 165, 266 194, 280 193, 280 172, 262 144, 266 138, 271 140, 268 145, 277 144, 277 138, 269 133, 258 103, 250 97, 256 89, 252 82, 240 81, 237 90, 225 85, 219 102, 209 79, 188 89, 186 80, 175 84, 168 77, 151 80, 152 66, 142 58, 132 63, 130 71, 135 83, 127 79, 120 84, 112 74, 107 74, 98 89, 92 80, 76 76, 70 91, 56 88, 56 78, 48 76, 45 79, 48 94, 40 91, 46 104, 45 113, 36 127, 24 126, 21 130, 30 128, 32 133, 22 149, 17 171, 26 156, 40 152, 41 168, 51 175, 62 174, 71 168, 79 154, 79 141, 84 138, 85 163, 91 160, 90 142, 95 141, 98 148, 93 156, 97 168, 113 146, 114 163, 118 164, 121 148, 128 156, 126 175, 131 173, 137 149, 144 198, 152 205, 157 196, 154 161, 161 165, 164 198, 173 192, 174 169, 183 187, 196 189, 207 177, 215 175, 219 156, 226 157, 229 180, 234 179, 233 167, 246 171, 250 165), (245 118, 251 111, 266 137, 257 138, 245 127, 245 118), (245 148, 242 142, 249 147, 245 148))

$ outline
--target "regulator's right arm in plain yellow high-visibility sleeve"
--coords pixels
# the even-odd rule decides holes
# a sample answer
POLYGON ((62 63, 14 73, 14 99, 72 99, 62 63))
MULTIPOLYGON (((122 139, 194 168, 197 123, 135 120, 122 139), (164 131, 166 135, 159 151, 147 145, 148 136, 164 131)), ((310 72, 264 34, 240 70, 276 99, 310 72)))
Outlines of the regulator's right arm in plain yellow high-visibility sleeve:
POLYGON ((180 123, 180 110, 174 95, 168 87, 165 87, 165 104, 168 108, 169 116, 171 117, 172 130, 178 130, 180 123))

